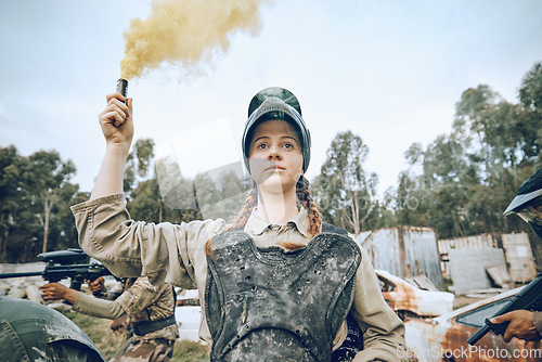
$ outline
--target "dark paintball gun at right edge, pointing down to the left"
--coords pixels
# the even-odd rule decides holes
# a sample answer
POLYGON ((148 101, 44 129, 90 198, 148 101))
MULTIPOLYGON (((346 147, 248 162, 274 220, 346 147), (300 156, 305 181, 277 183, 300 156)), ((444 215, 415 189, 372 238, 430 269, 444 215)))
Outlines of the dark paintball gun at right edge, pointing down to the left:
MULTIPOLYGON (((537 277, 527 284, 518 294, 511 298, 491 318, 512 312, 514 310, 542 310, 542 273, 538 273, 537 277)), ((486 319, 486 325, 467 339, 467 342, 474 346, 489 331, 493 331, 496 335, 503 335, 509 322, 493 324, 486 319)))

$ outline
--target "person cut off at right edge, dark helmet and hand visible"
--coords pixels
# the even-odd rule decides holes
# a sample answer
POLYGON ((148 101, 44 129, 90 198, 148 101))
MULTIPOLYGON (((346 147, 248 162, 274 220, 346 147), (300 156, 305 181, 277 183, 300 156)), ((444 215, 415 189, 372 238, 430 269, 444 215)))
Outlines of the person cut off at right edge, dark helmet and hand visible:
MULTIPOLYGON (((534 233, 542 238, 542 169, 525 181, 504 211, 504 216, 517 215, 528 222, 534 233)), ((542 298, 542 290, 541 290, 542 298)), ((542 312, 515 310, 490 320, 491 323, 505 323, 508 326, 503 335, 504 341, 512 337, 527 341, 542 338, 542 312)))

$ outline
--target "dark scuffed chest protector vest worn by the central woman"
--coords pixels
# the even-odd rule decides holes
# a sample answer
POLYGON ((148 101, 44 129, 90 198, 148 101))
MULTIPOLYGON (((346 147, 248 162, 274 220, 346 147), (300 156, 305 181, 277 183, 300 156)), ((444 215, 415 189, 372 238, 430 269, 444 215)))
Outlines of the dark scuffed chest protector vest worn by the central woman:
POLYGON ((212 240, 205 290, 211 361, 331 360, 361 253, 346 231, 322 231, 296 251, 257 248, 238 231, 212 240))

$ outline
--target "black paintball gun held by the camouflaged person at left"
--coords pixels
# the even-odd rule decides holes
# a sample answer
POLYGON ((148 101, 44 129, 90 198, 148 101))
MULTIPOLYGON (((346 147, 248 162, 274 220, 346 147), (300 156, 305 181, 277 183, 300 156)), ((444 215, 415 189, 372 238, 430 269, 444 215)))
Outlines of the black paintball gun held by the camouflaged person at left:
MULTIPOLYGON (((3 273, 0 274, 0 279, 41 275, 43 280, 50 283, 69 279, 69 287, 80 290, 81 284, 85 283, 86 280, 94 281, 99 276, 113 275, 107 268, 98 262, 82 263, 86 262, 83 259, 87 258, 88 255, 81 249, 69 248, 66 250, 42 253, 38 255, 38 259, 47 262, 43 271, 3 273)), ((93 294, 96 297, 101 297, 102 295, 101 292, 93 294)))

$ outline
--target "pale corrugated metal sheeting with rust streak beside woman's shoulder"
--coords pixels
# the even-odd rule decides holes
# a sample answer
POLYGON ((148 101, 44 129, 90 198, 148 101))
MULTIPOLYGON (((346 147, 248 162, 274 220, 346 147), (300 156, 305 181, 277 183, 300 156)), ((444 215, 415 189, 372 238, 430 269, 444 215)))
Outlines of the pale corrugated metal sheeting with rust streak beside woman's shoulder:
POLYGON ((353 235, 376 269, 406 279, 426 275, 442 289, 437 235, 430 228, 396 227, 353 235))

